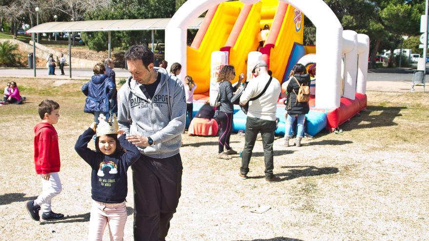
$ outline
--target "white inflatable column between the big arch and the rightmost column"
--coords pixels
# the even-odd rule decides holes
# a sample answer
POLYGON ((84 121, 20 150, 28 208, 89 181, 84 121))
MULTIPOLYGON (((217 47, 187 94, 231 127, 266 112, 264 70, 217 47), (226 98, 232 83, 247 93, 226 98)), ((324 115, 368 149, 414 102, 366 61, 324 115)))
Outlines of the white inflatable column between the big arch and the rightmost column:
POLYGON ((354 100, 357 77, 357 33, 351 30, 343 31, 344 57, 344 93, 343 96, 354 100))

